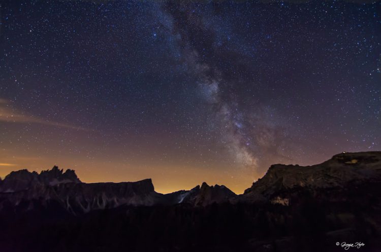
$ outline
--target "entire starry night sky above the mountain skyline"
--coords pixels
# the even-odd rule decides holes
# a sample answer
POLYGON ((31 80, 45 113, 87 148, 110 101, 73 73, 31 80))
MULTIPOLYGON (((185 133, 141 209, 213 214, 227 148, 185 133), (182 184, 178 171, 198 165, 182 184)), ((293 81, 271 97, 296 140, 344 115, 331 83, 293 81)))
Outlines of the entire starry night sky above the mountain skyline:
POLYGON ((242 193, 381 145, 381 2, 1 1, 0 176, 242 193))

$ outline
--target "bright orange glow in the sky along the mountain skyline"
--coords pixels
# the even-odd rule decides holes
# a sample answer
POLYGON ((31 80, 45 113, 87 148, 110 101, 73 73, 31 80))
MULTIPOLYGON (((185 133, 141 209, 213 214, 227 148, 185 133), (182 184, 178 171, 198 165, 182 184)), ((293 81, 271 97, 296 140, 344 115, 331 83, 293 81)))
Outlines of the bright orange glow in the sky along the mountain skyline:
MULTIPOLYGON (((16 161, 16 160, 14 160, 16 161)), ((3 169, 0 170, 0 176, 4 179, 11 171, 20 169, 28 169, 29 171, 41 172, 42 170, 51 169, 57 165, 60 169, 74 169, 79 179, 84 183, 99 182, 135 182, 142 179, 151 178, 155 191, 158 193, 171 193, 179 190, 189 190, 203 182, 210 186, 225 185, 236 194, 241 194, 249 188, 253 181, 258 179, 258 174, 233 174, 227 171, 225 167, 205 168, 192 167, 186 168, 179 166, 167 166, 158 164, 123 164, 110 162, 86 162, 78 159, 34 159, 27 158, 17 159, 18 165, 12 163, 0 163, 3 169)), ((263 174, 262 174, 263 175, 263 174)), ((261 175, 261 176, 262 176, 261 175)))

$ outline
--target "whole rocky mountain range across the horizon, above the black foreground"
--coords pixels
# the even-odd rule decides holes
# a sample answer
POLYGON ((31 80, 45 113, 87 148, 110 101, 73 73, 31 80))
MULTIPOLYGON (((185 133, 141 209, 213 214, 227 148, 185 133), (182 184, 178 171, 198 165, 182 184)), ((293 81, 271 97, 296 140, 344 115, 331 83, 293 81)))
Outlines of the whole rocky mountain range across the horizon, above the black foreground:
POLYGON ((123 183, 82 183, 74 170, 12 171, 0 181, 0 210, 5 205, 32 209, 38 202, 58 203, 78 214, 121 205, 153 206, 187 204, 205 207, 220 203, 272 203, 292 205, 301 195, 332 200, 351 200, 347 188, 381 182, 381 152, 340 153, 312 166, 271 165, 267 173, 244 194, 236 195, 226 186, 203 183, 192 190, 170 194, 154 191, 151 179, 123 183))

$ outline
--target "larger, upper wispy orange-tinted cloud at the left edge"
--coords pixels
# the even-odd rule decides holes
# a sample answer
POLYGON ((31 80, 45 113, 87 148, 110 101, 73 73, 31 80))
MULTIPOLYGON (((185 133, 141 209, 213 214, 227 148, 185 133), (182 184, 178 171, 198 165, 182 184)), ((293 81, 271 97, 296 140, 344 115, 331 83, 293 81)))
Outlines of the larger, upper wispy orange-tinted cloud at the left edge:
POLYGON ((78 127, 71 124, 49 121, 33 115, 26 115, 21 111, 18 111, 12 107, 9 100, 0 98, 0 122, 9 123, 37 123, 50 125, 55 127, 76 129, 76 130, 88 130, 87 128, 78 127))

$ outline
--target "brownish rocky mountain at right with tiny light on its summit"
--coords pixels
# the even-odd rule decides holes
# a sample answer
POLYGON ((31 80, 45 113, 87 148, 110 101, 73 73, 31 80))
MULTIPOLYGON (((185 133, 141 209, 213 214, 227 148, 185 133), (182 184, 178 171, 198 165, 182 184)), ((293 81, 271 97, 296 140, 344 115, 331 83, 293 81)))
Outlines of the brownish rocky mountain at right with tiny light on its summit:
POLYGON ((272 198, 288 191, 342 190, 380 179, 381 152, 340 153, 312 166, 272 165, 241 198, 247 201, 274 200, 272 198))

